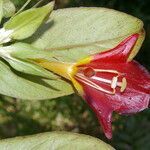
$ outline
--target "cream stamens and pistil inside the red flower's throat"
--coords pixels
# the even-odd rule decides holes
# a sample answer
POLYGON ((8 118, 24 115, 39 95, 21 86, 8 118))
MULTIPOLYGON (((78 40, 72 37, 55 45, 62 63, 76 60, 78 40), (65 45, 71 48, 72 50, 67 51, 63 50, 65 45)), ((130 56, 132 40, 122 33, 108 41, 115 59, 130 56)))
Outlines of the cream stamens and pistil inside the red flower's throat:
POLYGON ((118 81, 118 77, 121 76, 121 73, 116 70, 105 70, 105 69, 93 69, 93 68, 79 68, 80 72, 75 75, 75 78, 85 84, 99 90, 105 92, 107 94, 115 94, 116 87, 120 87, 120 92, 123 92, 126 89, 127 81, 126 78, 123 77, 121 82, 118 81), (102 78, 100 76, 96 76, 97 72, 104 72, 108 74, 113 74, 112 79, 102 78), (99 83, 105 83, 111 87, 111 90, 107 90, 101 87, 98 84, 95 84, 94 81, 99 81, 99 83))

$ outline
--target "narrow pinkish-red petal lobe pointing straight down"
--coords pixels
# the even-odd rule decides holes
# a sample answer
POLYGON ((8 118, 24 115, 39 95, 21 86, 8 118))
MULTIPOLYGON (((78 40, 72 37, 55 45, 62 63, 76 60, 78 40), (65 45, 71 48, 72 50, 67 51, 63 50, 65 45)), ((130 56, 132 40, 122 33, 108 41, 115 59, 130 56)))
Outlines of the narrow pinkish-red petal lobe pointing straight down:
POLYGON ((97 118, 105 133, 105 136, 108 139, 111 139, 112 138, 111 117, 113 108, 111 107, 111 105, 109 105, 108 99, 107 97, 104 96, 103 93, 100 93, 99 91, 86 85, 83 85, 83 87, 85 92, 84 99, 86 100, 88 105, 92 108, 92 110, 96 113, 97 118))

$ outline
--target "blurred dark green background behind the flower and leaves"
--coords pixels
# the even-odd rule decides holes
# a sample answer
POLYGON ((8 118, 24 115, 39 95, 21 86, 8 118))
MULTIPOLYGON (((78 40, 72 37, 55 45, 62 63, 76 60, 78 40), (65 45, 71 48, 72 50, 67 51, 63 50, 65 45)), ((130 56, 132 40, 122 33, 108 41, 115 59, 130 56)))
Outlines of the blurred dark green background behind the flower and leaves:
MULTIPOLYGON (((26 2, 12 1, 17 9, 26 2)), ((37 1, 33 0, 28 7, 37 1)), ((56 9, 79 6, 113 8, 143 20, 147 35, 136 60, 150 70, 150 0, 56 0, 56 9)), ((93 112, 77 95, 44 101, 0 96, 0 138, 66 130, 98 137, 119 150, 150 149, 150 110, 134 116, 114 114, 113 120, 113 139, 108 141, 93 112)))

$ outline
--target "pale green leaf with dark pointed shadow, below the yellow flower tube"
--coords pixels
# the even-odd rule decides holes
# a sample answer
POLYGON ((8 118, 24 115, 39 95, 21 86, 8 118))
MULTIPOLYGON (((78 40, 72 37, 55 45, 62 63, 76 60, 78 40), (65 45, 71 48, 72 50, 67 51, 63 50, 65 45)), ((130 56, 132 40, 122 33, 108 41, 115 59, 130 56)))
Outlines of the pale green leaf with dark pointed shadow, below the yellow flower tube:
POLYGON ((0 60, 0 94, 27 100, 42 100, 73 93, 62 79, 46 79, 13 70, 0 60))

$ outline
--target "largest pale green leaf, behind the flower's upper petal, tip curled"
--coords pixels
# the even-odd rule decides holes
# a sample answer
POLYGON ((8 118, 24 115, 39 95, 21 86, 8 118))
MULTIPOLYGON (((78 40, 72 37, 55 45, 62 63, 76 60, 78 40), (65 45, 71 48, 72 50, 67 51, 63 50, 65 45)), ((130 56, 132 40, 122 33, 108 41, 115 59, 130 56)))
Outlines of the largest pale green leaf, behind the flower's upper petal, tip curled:
MULTIPOLYGON (((107 8, 68 8, 53 11, 50 19, 28 42, 54 50, 61 61, 75 62, 88 55, 106 51, 133 33, 143 33, 141 20, 107 8), (59 51, 56 51, 59 50, 59 51)), ((144 39, 141 34, 139 50, 144 39)))

